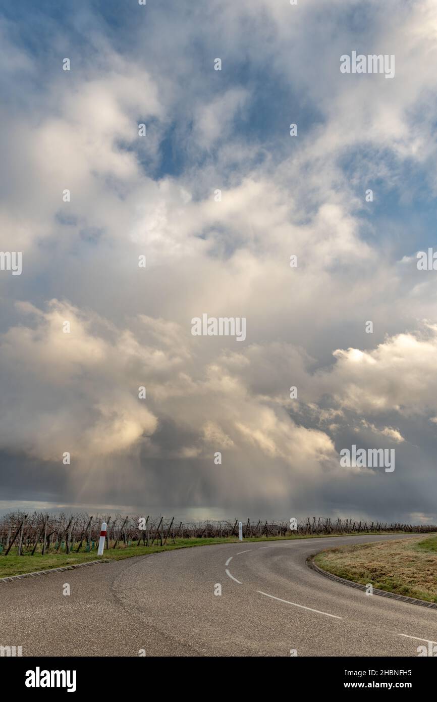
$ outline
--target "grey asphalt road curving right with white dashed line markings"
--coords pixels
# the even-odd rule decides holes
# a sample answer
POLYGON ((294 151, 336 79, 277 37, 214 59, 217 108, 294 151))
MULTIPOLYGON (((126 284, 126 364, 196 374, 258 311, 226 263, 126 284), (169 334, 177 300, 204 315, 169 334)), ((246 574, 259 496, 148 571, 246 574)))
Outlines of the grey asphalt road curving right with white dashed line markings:
POLYGON ((305 562, 393 538, 409 537, 201 546, 1 583, 0 644, 22 656, 417 656, 437 642, 437 609, 365 595, 305 562))

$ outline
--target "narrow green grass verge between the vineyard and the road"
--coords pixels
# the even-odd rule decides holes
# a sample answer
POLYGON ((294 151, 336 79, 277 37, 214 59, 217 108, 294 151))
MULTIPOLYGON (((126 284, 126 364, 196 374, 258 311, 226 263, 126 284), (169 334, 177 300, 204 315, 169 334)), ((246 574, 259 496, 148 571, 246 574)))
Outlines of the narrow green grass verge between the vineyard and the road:
MULTIPOLYGON (((381 533, 381 532, 379 532, 381 533)), ((393 533, 393 532, 391 532, 393 533)), ((361 536, 365 534, 377 534, 375 531, 365 531, 361 533, 361 536)), ((293 536, 250 536, 245 538, 244 541, 290 541, 295 538, 330 538, 332 536, 347 536, 347 534, 295 534, 293 536)), ((172 551, 176 548, 190 548, 192 546, 206 546, 215 543, 238 543, 238 538, 177 538, 176 543, 170 543, 166 546, 119 546, 119 548, 109 550, 105 549, 104 557, 111 560, 120 560, 123 558, 132 558, 133 556, 144 556, 149 553, 159 553, 161 551, 172 551)), ((77 545, 74 547, 77 548, 77 545)), ((3 554, 0 555, 0 578, 6 578, 13 575, 22 575, 25 573, 34 573, 35 571, 50 570, 52 568, 62 568, 64 566, 72 566, 76 563, 83 563, 86 561, 94 561, 98 558, 97 549, 86 553, 85 551, 79 551, 79 553, 73 552, 68 555, 64 553, 53 553, 48 552, 46 555, 41 555, 41 553, 35 552, 35 555, 25 554, 18 556, 16 550, 11 549, 7 556, 3 554)))

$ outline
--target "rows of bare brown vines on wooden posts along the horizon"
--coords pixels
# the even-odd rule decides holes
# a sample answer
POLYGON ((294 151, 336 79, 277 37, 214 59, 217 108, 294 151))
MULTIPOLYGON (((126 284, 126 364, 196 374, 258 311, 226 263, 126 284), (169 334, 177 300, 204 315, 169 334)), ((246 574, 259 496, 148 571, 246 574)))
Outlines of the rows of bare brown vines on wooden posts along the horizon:
MULTIPOLYGON (((107 523, 107 549, 133 545, 166 545, 190 538, 238 537, 238 519, 220 522, 175 522, 175 518, 150 515, 55 515, 34 512, 11 512, 0 517, 0 555, 45 555, 46 553, 90 552, 97 550, 102 522, 107 523)), ((353 519, 307 517, 290 529, 285 520, 243 522, 243 538, 285 538, 291 536, 326 536, 328 534, 417 533, 437 531, 433 525, 387 522, 362 522, 353 519)))

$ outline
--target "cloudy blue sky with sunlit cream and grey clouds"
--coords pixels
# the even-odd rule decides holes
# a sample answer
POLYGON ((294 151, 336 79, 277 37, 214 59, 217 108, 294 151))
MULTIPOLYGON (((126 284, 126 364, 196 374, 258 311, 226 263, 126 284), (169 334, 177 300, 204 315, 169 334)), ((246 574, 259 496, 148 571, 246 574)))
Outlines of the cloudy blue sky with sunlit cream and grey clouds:
POLYGON ((435 1, 20 0, 0 47, 0 511, 437 523, 435 1))

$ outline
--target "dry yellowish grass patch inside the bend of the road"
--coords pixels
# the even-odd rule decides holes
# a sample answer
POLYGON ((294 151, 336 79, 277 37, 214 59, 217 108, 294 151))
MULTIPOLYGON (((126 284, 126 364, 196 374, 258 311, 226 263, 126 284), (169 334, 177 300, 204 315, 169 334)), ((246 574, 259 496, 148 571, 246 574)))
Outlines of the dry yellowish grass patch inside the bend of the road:
POLYGON ((437 602, 437 537, 340 546, 319 553, 318 567, 374 588, 437 602))

